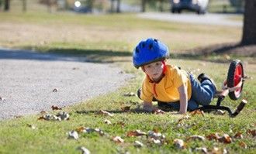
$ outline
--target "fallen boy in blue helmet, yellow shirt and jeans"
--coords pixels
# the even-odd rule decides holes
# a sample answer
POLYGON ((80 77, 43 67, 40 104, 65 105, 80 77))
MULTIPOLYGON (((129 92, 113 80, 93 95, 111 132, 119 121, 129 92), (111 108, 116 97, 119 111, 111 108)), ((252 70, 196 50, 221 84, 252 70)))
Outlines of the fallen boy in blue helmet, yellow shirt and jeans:
POLYGON ((185 114, 201 105, 207 105, 213 101, 216 86, 205 74, 200 74, 197 82, 192 74, 180 70, 173 65, 166 65, 168 47, 157 39, 145 39, 140 41, 133 51, 133 65, 146 74, 142 88, 138 91, 138 97, 144 102, 145 111, 157 111, 163 113, 152 105, 152 101, 158 101, 158 107, 171 107, 179 110, 179 114, 185 114))

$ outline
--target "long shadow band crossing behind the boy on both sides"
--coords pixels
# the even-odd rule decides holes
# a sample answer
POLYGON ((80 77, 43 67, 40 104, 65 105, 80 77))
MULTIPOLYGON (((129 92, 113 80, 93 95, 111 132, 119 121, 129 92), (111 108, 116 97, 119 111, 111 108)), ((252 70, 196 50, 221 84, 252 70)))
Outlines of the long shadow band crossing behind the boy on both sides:
MULTIPOLYGON (((92 63, 116 63, 130 62, 132 51, 118 50, 86 50, 75 48, 47 48, 23 46, 27 50, 3 50, 0 49, 0 59, 24 59, 24 60, 61 60, 84 61, 92 63), (31 50, 38 52, 33 52, 31 50)), ((225 54, 232 58, 256 56, 256 46, 242 46, 240 43, 223 43, 213 46, 199 47, 187 50, 185 53, 171 53, 171 59, 179 60, 205 60, 214 63, 230 63, 225 59, 225 54), (217 58, 215 57, 217 56, 217 58)))

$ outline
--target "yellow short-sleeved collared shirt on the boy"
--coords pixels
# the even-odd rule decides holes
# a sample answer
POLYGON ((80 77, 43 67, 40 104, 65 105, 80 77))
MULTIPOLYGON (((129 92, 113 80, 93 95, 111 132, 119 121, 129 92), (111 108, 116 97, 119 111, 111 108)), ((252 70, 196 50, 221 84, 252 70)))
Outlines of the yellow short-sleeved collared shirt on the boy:
POLYGON ((150 102, 154 97, 158 101, 164 102, 179 101, 178 87, 182 84, 187 87, 188 99, 191 98, 192 90, 189 74, 173 65, 167 65, 166 67, 165 75, 159 83, 154 83, 149 77, 145 78, 140 95, 142 100, 150 102))

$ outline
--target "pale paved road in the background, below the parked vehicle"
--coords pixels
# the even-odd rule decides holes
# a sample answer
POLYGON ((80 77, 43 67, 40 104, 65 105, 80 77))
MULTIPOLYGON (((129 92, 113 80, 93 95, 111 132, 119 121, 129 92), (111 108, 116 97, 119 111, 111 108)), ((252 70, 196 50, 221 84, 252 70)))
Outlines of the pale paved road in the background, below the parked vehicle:
POLYGON ((195 13, 171 14, 171 13, 146 12, 146 13, 138 14, 138 16, 146 19, 157 19, 161 21, 170 21, 170 22, 186 22, 186 23, 219 25, 219 26, 243 26, 242 21, 230 19, 240 15, 230 15, 230 14, 206 13, 205 15, 197 15, 195 13))

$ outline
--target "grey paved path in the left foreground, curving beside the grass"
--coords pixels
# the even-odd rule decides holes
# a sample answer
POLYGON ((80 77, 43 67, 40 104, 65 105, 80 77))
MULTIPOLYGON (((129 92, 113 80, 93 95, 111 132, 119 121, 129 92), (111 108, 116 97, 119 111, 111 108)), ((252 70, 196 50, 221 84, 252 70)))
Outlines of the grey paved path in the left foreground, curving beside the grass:
POLYGON ((85 60, 0 49, 0 121, 85 101, 116 90, 132 77, 109 64, 85 60))

